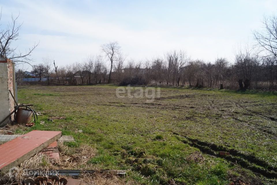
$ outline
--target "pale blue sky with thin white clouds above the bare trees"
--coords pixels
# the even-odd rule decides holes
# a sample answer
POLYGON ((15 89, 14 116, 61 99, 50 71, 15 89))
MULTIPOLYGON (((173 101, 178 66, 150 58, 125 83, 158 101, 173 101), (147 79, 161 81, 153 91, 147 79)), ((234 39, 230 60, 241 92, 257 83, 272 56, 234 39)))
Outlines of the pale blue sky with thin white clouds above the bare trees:
POLYGON ((101 45, 113 41, 126 61, 182 49, 192 59, 232 62, 238 47, 254 43, 263 17, 277 13, 276 0, 0 0, 0 6, 1 29, 12 15, 23 23, 13 46, 25 51, 39 42, 33 64, 49 57, 58 66, 104 55, 101 45))

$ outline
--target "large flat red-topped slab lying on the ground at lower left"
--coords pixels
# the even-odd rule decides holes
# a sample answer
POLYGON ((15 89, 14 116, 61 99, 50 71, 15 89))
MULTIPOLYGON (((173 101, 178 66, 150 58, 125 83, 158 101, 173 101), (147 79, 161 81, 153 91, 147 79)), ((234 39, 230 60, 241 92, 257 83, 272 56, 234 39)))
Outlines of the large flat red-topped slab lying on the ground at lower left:
POLYGON ((5 173, 61 137, 59 131, 33 130, 0 145, 0 171, 5 173))

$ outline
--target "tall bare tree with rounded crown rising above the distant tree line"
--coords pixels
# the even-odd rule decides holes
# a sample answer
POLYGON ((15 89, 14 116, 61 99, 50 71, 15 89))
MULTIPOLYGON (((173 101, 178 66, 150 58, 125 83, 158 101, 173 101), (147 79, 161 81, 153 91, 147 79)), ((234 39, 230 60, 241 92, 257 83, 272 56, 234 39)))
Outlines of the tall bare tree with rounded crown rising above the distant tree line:
POLYGON ((117 60, 118 54, 120 53, 120 46, 117 42, 110 42, 108 44, 102 45, 102 51, 106 54, 111 62, 111 69, 109 74, 108 83, 111 83, 111 73, 113 69, 113 62, 117 60))

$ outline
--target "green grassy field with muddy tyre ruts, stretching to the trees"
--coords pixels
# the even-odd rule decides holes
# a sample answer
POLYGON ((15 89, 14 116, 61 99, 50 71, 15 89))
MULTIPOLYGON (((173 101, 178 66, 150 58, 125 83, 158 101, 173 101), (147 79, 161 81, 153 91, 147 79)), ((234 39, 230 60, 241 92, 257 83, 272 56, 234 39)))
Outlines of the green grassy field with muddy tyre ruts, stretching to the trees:
POLYGON ((116 88, 20 89, 20 103, 44 112, 39 120, 45 124, 17 132, 72 135, 76 143, 66 143, 69 147, 86 143, 97 150, 79 169, 128 170, 125 181, 134 184, 277 182, 276 95, 161 88, 161 97, 149 101, 119 98, 116 88), (48 121, 55 116, 66 118, 48 121))

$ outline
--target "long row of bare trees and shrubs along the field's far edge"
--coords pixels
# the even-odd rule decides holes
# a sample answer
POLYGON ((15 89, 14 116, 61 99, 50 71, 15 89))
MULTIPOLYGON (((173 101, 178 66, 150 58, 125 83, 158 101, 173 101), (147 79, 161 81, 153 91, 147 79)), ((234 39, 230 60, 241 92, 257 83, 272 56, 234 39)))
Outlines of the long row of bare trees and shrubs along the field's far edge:
POLYGON ((182 50, 139 62, 126 61, 121 53, 115 53, 109 67, 100 55, 63 67, 54 67, 53 60, 44 58, 43 63, 33 66, 32 73, 47 77, 49 83, 52 80, 68 85, 114 83, 276 90, 276 57, 260 54, 245 47, 235 53, 235 61, 231 63, 226 58, 217 58, 214 62, 192 60, 182 50))

